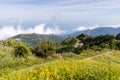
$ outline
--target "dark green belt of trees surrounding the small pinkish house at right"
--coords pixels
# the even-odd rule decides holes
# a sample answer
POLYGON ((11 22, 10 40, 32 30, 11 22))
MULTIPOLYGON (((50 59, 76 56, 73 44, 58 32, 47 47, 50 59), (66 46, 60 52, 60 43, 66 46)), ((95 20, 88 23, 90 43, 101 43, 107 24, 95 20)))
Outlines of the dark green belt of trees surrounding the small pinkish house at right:
POLYGON ((99 35, 96 37, 92 37, 88 34, 80 34, 76 38, 67 38, 65 39, 61 45, 62 47, 58 49, 58 52, 74 52, 76 54, 80 54, 82 51, 87 49, 92 49, 95 51, 100 51, 102 49, 120 49, 120 41, 119 34, 116 36, 111 34, 99 35), (81 42, 84 45, 82 47, 76 47, 81 42))

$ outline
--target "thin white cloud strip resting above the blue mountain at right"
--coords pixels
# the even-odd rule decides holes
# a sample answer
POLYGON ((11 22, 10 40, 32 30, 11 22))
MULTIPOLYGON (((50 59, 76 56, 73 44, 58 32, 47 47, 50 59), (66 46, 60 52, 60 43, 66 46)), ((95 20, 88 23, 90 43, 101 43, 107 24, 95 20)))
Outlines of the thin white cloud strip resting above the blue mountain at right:
POLYGON ((106 25, 106 26, 98 26, 97 24, 94 26, 78 26, 73 31, 84 31, 84 30, 93 30, 99 27, 112 27, 112 28, 119 28, 120 25, 106 25))

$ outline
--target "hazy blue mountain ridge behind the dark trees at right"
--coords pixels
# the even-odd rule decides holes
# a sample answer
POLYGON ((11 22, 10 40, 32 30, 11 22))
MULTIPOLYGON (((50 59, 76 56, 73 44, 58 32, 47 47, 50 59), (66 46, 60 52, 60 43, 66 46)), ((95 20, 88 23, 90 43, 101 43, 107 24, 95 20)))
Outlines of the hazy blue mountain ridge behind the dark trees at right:
POLYGON ((84 30, 84 31, 77 31, 74 32, 72 34, 67 34, 65 35, 65 37, 73 37, 73 36, 77 36, 79 34, 89 34, 92 36, 98 36, 101 34, 113 34, 113 35, 117 35, 118 33, 120 33, 120 27, 119 28, 112 28, 112 27, 99 27, 99 28, 95 28, 93 30, 84 30))

